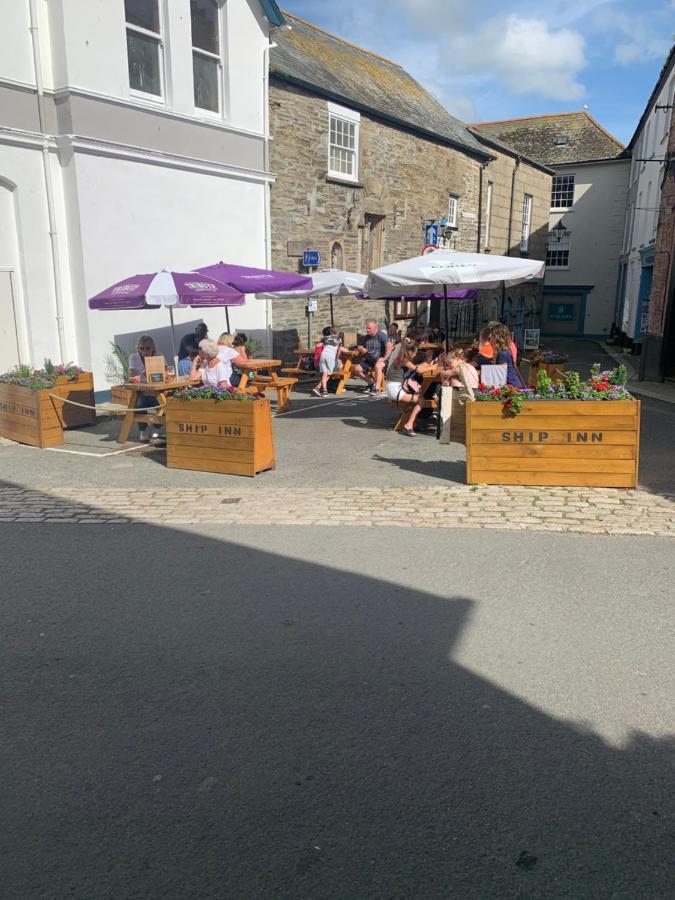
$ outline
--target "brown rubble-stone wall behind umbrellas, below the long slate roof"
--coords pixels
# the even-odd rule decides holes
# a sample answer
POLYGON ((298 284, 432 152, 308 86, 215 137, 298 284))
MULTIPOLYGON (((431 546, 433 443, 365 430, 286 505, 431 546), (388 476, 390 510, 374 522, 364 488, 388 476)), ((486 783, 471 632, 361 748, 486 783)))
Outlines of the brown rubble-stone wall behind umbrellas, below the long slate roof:
MULTIPOLYGON (((487 183, 494 184, 489 250, 520 255, 523 195, 532 194, 532 226, 527 255, 545 259, 551 176, 522 162, 518 166, 512 209, 511 247, 507 246, 511 183, 516 160, 493 147, 495 157, 483 172, 483 210, 479 241, 481 160, 468 152, 426 139, 361 115, 359 182, 349 184, 328 177, 328 106, 281 79, 270 79, 270 167, 276 176, 271 191, 272 265, 304 271, 303 249, 321 253, 321 268, 335 265, 367 274, 371 268, 368 217, 382 217, 382 253, 374 265, 386 265, 418 255, 424 245, 425 220, 448 214, 448 195, 459 196, 457 228, 446 233, 446 246, 476 252, 485 249, 487 183)), ((518 298, 531 297, 541 309, 541 285, 523 285, 508 292, 511 324, 518 298)), ((482 292, 481 320, 501 309, 501 293, 482 292), (495 307, 495 302, 497 306, 495 307)), ((507 303, 507 308, 508 308, 507 303)), ((334 301, 335 323, 362 330, 366 318, 390 319, 389 301, 334 301)), ((274 353, 283 359, 307 341, 306 301, 273 301, 274 353)), ((330 303, 318 298, 313 336, 330 323, 330 303)), ((536 324, 536 323, 533 323, 536 324)))

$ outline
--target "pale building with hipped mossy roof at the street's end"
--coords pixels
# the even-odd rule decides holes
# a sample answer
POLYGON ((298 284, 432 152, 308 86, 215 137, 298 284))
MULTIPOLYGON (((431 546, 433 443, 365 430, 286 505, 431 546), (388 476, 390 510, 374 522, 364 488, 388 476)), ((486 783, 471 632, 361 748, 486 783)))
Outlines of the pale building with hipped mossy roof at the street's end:
POLYGON ((623 145, 585 111, 482 122, 474 130, 554 170, 542 330, 608 334, 630 164, 623 145))

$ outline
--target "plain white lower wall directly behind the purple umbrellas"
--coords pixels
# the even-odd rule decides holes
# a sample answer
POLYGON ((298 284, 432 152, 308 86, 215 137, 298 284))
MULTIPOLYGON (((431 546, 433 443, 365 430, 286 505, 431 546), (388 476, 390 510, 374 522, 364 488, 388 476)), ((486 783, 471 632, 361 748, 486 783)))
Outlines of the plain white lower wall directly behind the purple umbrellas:
MULTIPOLYGON (((221 259, 264 266, 264 186, 83 153, 76 153, 74 163, 83 293, 73 302, 77 317, 86 318, 89 334, 80 359, 81 364, 91 365, 96 388, 105 390, 103 359, 108 342, 116 335, 163 329, 160 337, 168 351, 168 313, 90 311, 87 297, 128 275, 163 266, 190 271, 221 259)), ((181 310, 175 318, 179 334, 190 330, 184 323, 202 318, 216 337, 225 330, 222 309, 181 310)), ((266 304, 249 298, 245 307, 230 310, 230 320, 237 330, 262 331, 266 304)))

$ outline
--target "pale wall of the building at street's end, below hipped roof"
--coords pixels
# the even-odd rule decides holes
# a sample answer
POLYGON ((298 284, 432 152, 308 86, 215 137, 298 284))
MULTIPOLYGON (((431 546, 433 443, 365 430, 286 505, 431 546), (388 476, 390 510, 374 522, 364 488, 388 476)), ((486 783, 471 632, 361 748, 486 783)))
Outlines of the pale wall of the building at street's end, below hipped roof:
POLYGON ((553 213, 549 228, 561 219, 571 232, 570 265, 546 270, 550 285, 593 285, 586 306, 585 334, 609 333, 614 316, 618 261, 623 239, 629 161, 558 167, 574 175, 574 206, 553 213))

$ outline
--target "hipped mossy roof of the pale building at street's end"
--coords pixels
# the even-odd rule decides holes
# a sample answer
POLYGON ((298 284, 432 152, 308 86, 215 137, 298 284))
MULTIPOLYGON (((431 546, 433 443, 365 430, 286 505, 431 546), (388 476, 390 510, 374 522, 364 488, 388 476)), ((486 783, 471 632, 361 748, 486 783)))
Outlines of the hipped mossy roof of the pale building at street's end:
POLYGON ((477 122, 471 126, 486 137, 505 141, 519 153, 545 166, 625 156, 623 144, 586 110, 477 122))

